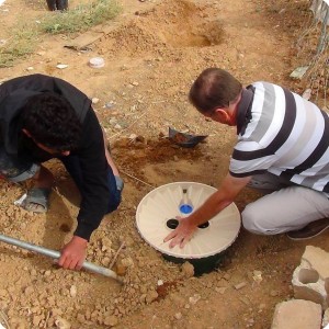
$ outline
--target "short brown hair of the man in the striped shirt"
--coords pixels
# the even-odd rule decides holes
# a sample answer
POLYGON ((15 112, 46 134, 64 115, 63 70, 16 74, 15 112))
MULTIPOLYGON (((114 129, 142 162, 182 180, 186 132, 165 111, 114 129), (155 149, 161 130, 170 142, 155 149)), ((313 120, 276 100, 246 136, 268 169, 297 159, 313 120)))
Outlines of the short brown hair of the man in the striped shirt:
POLYGON ((218 107, 227 107, 241 90, 241 82, 226 70, 207 68, 192 84, 189 100, 201 113, 209 113, 218 107))

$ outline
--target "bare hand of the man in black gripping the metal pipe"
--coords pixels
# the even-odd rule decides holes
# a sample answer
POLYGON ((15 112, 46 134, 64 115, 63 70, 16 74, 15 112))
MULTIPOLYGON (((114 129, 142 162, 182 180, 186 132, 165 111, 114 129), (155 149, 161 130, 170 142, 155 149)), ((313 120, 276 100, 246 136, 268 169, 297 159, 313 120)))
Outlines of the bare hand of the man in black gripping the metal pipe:
POLYGON ((58 265, 69 270, 80 270, 86 259, 88 241, 73 236, 72 239, 64 246, 58 265))

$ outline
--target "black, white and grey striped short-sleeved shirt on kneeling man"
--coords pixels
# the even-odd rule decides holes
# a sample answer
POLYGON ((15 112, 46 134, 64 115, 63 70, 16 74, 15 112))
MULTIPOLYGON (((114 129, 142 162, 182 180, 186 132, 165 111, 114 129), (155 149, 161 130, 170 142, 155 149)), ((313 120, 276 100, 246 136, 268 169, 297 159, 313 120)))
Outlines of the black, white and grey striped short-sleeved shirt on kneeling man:
POLYGON ((329 117, 314 103, 269 82, 252 83, 238 109, 229 171, 269 171, 329 196, 329 117))

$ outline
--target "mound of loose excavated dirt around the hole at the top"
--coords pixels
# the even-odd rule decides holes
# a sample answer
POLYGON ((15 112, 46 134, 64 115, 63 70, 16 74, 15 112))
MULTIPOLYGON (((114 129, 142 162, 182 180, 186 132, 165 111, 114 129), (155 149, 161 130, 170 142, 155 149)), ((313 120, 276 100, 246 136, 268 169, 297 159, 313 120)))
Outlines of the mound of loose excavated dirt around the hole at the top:
POLYGON ((155 52, 164 47, 208 47, 224 42, 224 29, 219 20, 211 21, 207 7, 190 1, 162 1, 156 8, 137 12, 138 20, 128 22, 99 45, 111 38, 111 48, 129 53, 155 52))

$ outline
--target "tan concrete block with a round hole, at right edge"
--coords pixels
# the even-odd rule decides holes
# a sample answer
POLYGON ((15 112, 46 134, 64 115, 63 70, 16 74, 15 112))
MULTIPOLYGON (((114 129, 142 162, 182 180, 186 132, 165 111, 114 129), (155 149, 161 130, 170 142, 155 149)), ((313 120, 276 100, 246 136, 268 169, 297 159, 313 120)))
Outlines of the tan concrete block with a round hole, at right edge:
POLYGON ((300 264, 293 273, 294 297, 329 306, 329 253, 320 248, 307 246, 300 264))

